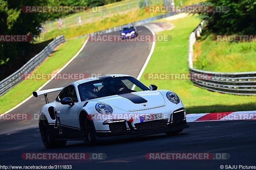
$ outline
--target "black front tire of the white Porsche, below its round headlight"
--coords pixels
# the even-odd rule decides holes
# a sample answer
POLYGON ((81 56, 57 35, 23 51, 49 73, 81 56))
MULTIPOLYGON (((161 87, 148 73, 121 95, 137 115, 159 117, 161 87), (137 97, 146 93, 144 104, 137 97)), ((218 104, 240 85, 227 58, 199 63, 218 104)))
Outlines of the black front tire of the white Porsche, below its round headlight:
POLYGON ((95 137, 93 136, 92 129, 93 125, 86 117, 86 114, 81 114, 79 116, 79 124, 81 136, 84 140, 85 145, 92 146, 95 144, 95 137))

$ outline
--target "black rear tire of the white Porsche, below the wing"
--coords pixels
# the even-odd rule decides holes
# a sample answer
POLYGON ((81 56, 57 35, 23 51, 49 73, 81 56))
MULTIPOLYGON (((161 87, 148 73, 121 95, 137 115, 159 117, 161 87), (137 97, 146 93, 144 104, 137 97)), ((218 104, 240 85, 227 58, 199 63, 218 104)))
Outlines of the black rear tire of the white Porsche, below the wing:
POLYGON ((40 120, 39 122, 39 130, 41 134, 41 138, 44 144, 44 147, 47 149, 50 148, 56 148, 56 147, 64 147, 67 143, 66 140, 59 140, 59 141, 54 141, 53 137, 50 133, 49 129, 49 123, 47 120, 40 120))

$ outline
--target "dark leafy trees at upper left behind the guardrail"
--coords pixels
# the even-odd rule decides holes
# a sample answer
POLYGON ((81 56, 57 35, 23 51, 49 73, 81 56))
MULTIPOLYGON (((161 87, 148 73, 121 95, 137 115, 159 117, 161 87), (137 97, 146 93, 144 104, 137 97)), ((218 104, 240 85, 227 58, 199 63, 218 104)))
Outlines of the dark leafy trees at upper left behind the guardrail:
MULTIPOLYGON (((24 13, 25 5, 42 5, 46 0, 0 0, 0 35, 38 34, 35 29, 43 21, 40 13, 24 13)), ((28 60, 29 42, 0 42, 0 78, 18 70, 28 60)))

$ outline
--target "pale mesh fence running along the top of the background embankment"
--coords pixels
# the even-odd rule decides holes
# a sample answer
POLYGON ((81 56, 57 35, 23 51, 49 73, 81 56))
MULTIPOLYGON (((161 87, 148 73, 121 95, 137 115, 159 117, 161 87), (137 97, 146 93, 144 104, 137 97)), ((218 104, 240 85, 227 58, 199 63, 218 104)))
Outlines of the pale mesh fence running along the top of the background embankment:
MULTIPOLYGON (((129 12, 134 9, 139 9, 143 6, 145 0, 128 0, 128 1, 122 1, 118 2, 118 4, 108 4, 106 5, 106 11, 104 12, 80 12, 76 13, 74 15, 70 15, 67 17, 62 17, 62 26, 64 28, 73 27, 73 26, 79 26, 79 20, 78 17, 81 17, 82 24, 92 22, 93 20, 99 20, 104 17, 110 17, 117 13, 122 12, 129 12)), ((162 0, 148 0, 149 4, 158 4, 162 3, 162 0)), ((144 4, 145 6, 145 4, 144 4)), ((59 18, 56 18, 55 20, 46 21, 42 25, 45 25, 46 30, 55 30, 59 27, 59 18)))

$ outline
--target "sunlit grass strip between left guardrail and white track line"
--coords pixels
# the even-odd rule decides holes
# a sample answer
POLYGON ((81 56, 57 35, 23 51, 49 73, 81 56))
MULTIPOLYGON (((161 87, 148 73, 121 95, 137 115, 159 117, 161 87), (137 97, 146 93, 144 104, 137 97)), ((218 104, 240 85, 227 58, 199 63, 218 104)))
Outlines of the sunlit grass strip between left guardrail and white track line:
MULTIPOLYGON (((66 41, 64 44, 60 45, 52 55, 47 57, 44 63, 38 66, 33 73, 57 72, 57 69, 64 66, 77 53, 85 40, 86 37, 66 41)), ((23 80, 6 92, 0 97, 0 114, 27 99, 33 91, 36 91, 46 81, 47 80, 23 80)))

